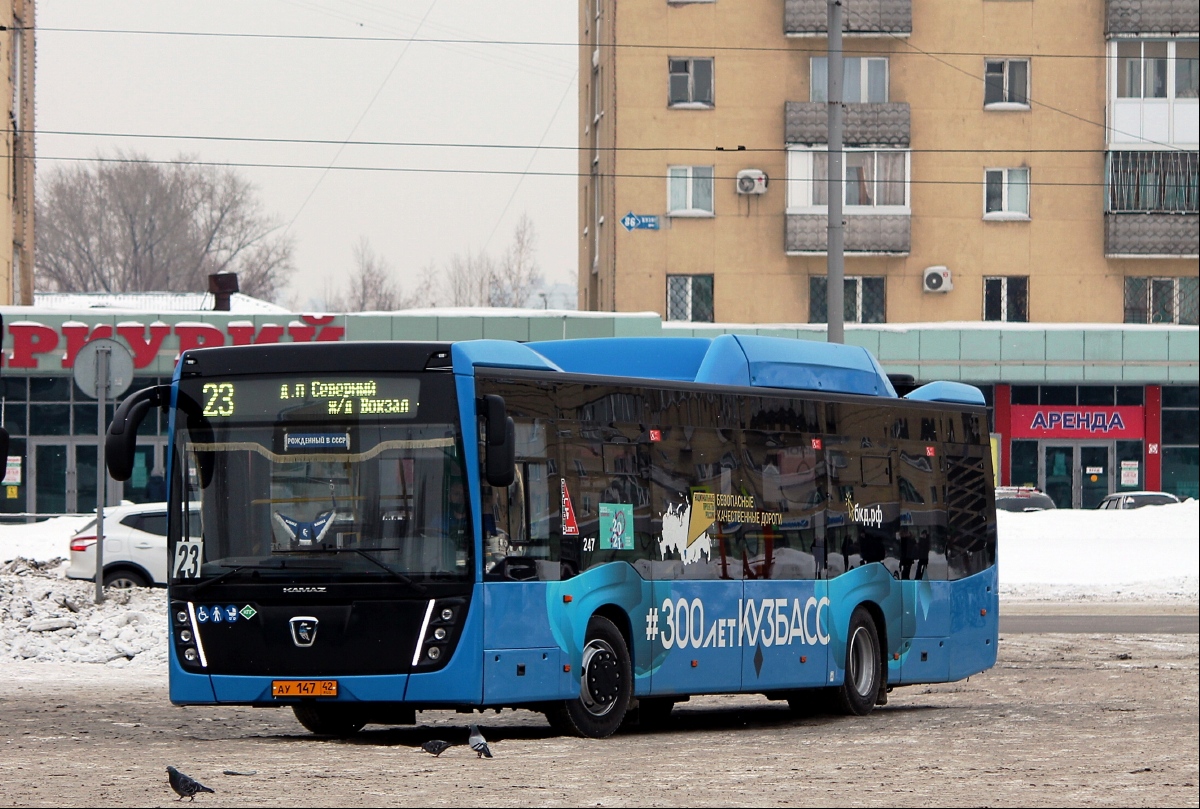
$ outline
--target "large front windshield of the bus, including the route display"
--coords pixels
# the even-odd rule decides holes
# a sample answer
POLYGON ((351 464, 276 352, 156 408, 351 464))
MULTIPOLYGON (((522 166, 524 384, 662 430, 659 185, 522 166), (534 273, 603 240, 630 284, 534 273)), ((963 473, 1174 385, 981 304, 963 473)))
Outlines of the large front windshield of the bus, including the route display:
POLYGON ((178 408, 174 581, 473 574, 449 374, 184 379, 178 408))

